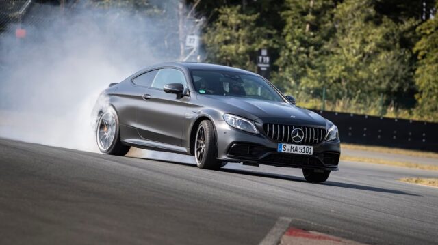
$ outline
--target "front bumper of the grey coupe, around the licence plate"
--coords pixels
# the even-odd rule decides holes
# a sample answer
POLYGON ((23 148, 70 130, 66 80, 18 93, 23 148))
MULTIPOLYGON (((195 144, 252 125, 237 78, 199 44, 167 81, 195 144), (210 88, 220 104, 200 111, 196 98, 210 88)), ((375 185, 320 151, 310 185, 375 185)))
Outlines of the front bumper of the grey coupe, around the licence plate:
POLYGON ((218 158, 224 162, 244 164, 266 164, 277 167, 300 169, 338 170, 341 154, 340 141, 322 141, 313 145, 313 155, 287 154, 277 152, 279 142, 267 136, 250 134, 229 126, 225 121, 215 121, 218 141, 218 158))

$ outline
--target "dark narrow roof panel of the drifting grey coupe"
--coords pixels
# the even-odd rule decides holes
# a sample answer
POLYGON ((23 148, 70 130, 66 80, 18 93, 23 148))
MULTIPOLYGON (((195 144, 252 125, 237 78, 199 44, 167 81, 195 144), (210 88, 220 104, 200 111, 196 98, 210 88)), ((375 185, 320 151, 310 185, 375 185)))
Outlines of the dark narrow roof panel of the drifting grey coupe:
MULTIPOLYGON (((196 63, 196 62, 166 62, 166 63, 159 63, 153 67, 150 68, 161 68, 166 66, 174 66, 178 68, 186 68, 188 70, 221 70, 225 72, 239 72, 244 74, 250 74, 250 75, 256 75, 253 72, 248 72, 247 70, 242 70, 239 68, 232 68, 230 66, 222 66, 222 65, 216 65, 211 63, 196 63)), ((146 68, 145 70, 149 70, 150 68, 146 68)))

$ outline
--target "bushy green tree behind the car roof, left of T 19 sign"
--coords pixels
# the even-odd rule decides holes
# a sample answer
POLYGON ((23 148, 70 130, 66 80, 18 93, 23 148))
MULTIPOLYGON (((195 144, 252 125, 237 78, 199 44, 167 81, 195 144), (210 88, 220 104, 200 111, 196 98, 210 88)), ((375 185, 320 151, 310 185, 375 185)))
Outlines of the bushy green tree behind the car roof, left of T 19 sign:
POLYGON ((203 36, 207 61, 254 71, 257 50, 274 46, 275 32, 257 26, 259 14, 242 14, 240 6, 222 7, 218 13, 203 36))

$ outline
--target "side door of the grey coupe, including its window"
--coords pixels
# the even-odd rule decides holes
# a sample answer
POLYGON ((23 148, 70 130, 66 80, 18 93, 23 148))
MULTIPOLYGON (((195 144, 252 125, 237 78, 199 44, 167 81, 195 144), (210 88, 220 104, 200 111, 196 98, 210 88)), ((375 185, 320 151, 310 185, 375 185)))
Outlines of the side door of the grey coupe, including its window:
POLYGON ((187 81, 181 70, 162 68, 157 70, 150 87, 144 88, 143 104, 138 107, 138 133, 143 139, 158 143, 181 146, 183 121, 188 96, 166 93, 168 83, 181 83, 187 89, 187 81))

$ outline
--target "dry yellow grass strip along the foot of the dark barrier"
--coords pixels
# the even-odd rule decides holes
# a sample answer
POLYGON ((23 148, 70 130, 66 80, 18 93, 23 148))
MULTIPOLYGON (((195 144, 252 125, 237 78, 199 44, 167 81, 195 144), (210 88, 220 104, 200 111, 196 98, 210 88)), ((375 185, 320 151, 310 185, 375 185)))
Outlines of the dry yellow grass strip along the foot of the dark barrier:
POLYGON ((341 147, 343 149, 359 149, 359 150, 372 151, 372 152, 402 154, 402 155, 406 155, 406 156, 416 156, 416 157, 437 158, 438 159, 438 153, 422 152, 422 151, 416 151, 413 149, 400 149, 400 148, 368 146, 368 145, 354 145, 354 144, 346 144, 346 143, 342 143, 341 147))

